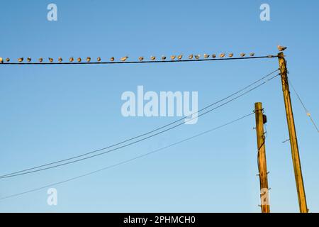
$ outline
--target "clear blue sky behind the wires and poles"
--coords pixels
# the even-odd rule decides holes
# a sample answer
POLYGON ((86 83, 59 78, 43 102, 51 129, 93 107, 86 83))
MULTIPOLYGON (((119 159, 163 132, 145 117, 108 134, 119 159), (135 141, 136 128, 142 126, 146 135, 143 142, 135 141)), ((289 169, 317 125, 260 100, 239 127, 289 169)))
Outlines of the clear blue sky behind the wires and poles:
MULTIPOLYGON (((204 52, 276 54, 286 45, 289 76, 313 118, 318 106, 318 1, 4 1, 0 56, 160 56, 204 52), (47 21, 47 4, 58 21, 47 21), (271 7, 260 21, 259 6, 271 7)), ((177 118, 124 118, 121 94, 198 91, 199 108, 278 67, 276 58, 151 65, 0 67, 0 173, 105 147, 177 118)), ((262 101, 267 114, 271 210, 297 212, 279 78, 233 103, 116 153, 34 175, 2 179, 0 196, 22 192, 174 143, 239 116, 262 101)), ((310 211, 319 211, 319 143, 292 94, 310 211)), ((196 140, 57 187, 0 201, 0 211, 259 212, 254 116, 196 140)))

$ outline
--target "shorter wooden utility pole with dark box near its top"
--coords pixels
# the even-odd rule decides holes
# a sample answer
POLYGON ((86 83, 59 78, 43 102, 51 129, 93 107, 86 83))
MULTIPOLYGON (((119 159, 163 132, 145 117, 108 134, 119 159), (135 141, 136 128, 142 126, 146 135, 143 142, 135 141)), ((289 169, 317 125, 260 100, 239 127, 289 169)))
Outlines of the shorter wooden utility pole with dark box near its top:
POLYGON ((264 123, 266 123, 266 116, 264 115, 264 109, 262 109, 262 103, 257 102, 254 104, 254 114, 256 116, 256 132, 257 132, 257 149, 258 149, 258 175, 260 180, 260 201, 262 207, 262 213, 269 213, 269 188, 268 188, 268 172, 266 162, 266 148, 265 148, 265 136, 264 136, 264 123))

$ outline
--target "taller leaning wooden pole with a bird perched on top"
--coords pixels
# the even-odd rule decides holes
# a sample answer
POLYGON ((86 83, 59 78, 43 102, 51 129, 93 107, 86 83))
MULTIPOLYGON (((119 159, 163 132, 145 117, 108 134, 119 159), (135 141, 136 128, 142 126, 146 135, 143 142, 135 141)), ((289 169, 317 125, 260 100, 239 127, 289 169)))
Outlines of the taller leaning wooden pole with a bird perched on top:
POLYGON ((286 60, 284 58, 284 53, 279 52, 278 58, 279 58, 279 69, 281 74, 282 91, 284 92, 286 118, 287 118, 288 131, 289 131, 291 155, 293 160, 293 170, 294 170, 295 179, 296 179, 299 209, 301 213, 308 213, 306 192, 305 192, 305 187, 303 186, 303 175, 301 172, 301 161, 299 157, 296 128, 295 128, 295 122, 293 120, 293 111, 291 106, 291 98, 290 98, 288 75, 287 75, 288 70, 286 67, 286 60))

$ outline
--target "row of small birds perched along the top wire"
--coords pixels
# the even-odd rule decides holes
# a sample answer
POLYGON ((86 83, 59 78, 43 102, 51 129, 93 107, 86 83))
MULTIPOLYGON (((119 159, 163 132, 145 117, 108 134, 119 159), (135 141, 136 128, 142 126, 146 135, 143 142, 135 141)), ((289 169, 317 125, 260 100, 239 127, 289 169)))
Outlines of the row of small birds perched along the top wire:
MULTIPOLYGON (((254 57, 254 52, 251 52, 249 55, 250 55, 250 57, 254 57)), ((230 54, 226 55, 225 53, 221 53, 218 56, 221 57, 221 58, 226 57, 226 56, 233 57, 234 54, 230 53, 230 54)), ((245 56, 246 56, 246 54, 244 52, 240 53, 240 57, 245 57, 245 56)), ((211 58, 216 58, 217 56, 215 54, 213 54, 213 55, 204 54, 203 55, 203 59, 208 59, 210 57, 211 58)), ((187 58, 189 60, 199 60, 199 59, 201 59, 201 55, 193 55, 193 54, 191 54, 187 58)), ((166 56, 162 55, 162 57, 160 57, 160 59, 163 60, 163 61, 164 60, 182 60, 183 59, 183 55, 171 55, 171 56, 169 56, 169 58, 167 58, 166 56)), ((32 58, 31 57, 27 57, 26 59, 24 57, 19 57, 18 58, 18 62, 23 62, 25 60, 26 60, 26 62, 32 62, 32 58)), ((54 62, 54 59, 52 57, 48 57, 48 60, 49 60, 49 62, 54 62)), ((69 57, 69 62, 74 62, 74 61, 75 62, 85 62, 85 61, 86 62, 91 62, 91 60, 92 60, 91 57, 86 57, 86 59, 82 59, 81 57, 78 57, 77 59, 75 59, 74 57, 69 57)), ((97 57, 96 58, 97 62, 101 62, 101 60, 102 60, 101 57, 97 57)), ((110 58, 110 62, 114 62, 115 60, 116 60, 115 57, 111 57, 110 58)), ((121 62, 125 62, 126 60, 128 60, 128 56, 121 57, 121 58, 119 58, 119 60, 121 60, 121 62)), ((141 57, 138 57, 138 60, 140 62, 142 62, 143 60, 146 60, 146 59, 145 59, 145 57, 141 56, 141 57)), ((157 60, 157 58, 155 56, 151 56, 150 60, 155 61, 155 60, 157 60)), ((40 62, 40 63, 43 62, 43 61, 44 61, 43 57, 40 57, 38 59, 38 62, 40 62)), ((58 62, 63 62, 62 57, 58 57, 57 61, 58 62)), ((4 58, 0 57, 0 63, 4 63, 4 62, 10 62, 10 58, 7 57, 4 60, 4 58)))

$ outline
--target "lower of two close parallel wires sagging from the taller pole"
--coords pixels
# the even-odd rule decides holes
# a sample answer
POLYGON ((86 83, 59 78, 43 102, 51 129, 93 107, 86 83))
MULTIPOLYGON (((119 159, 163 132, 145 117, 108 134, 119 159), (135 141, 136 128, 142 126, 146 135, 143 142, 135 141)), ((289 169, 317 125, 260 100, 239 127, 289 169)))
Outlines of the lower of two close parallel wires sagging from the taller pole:
MULTIPOLYGON (((276 71, 274 71, 274 72, 276 72, 276 71)), ((235 98, 230 99, 230 100, 224 102, 223 104, 220 104, 220 105, 216 106, 216 107, 213 108, 213 109, 210 109, 210 110, 208 110, 208 111, 206 111, 206 112, 203 112, 203 114, 199 114, 196 118, 199 118, 199 117, 201 117, 201 116, 203 116, 203 115, 205 115, 205 114, 208 114, 208 113, 210 113, 211 111, 213 111, 213 110, 215 110, 215 109, 218 109, 218 108, 220 108, 221 106, 224 106, 225 104, 228 104, 228 103, 230 103, 231 101, 234 101, 235 99, 238 99, 238 98, 240 98, 241 96, 244 96, 245 94, 247 94, 247 93, 249 93, 249 92, 252 92, 254 89, 257 89, 258 87, 261 87, 263 84, 266 84, 267 82, 269 82, 270 80, 274 79, 274 78, 277 77, 278 75, 279 75, 279 74, 276 74, 276 76, 271 77, 270 79, 267 79, 267 81, 264 81, 264 82, 262 82, 261 84, 258 84, 257 86, 253 87, 252 89, 248 90, 247 92, 244 92, 244 93, 242 93, 242 94, 240 94, 240 95, 238 95, 238 96, 235 96, 235 98)), ((190 119, 188 119, 187 121, 193 121, 193 120, 194 120, 194 118, 190 118, 190 119)), ((8 174, 8 175, 2 175, 2 176, 0 176, 0 179, 9 178, 9 177, 17 177, 17 176, 21 176, 21 175, 28 175, 28 174, 30 174, 30 173, 40 172, 40 171, 43 171, 43 170, 50 170, 50 169, 55 168, 55 167, 60 167, 60 166, 64 166, 64 165, 69 165, 69 164, 72 164, 72 163, 74 163, 74 162, 79 162, 79 161, 82 161, 82 160, 87 160, 87 159, 92 158, 92 157, 104 155, 104 154, 106 154, 106 153, 111 153, 112 151, 119 150, 119 149, 121 149, 121 148, 126 148, 126 147, 128 147, 128 146, 130 146, 130 145, 133 145, 133 144, 135 144, 135 143, 139 143, 139 142, 141 142, 141 141, 143 141, 143 140, 147 140, 148 138, 152 138, 152 137, 154 137, 154 136, 156 136, 156 135, 159 135, 159 134, 162 134, 162 133, 164 133, 164 132, 170 131, 170 130, 172 130, 172 129, 174 129, 174 128, 177 128, 177 127, 179 127, 179 126, 181 126, 181 125, 184 125, 184 123, 186 123, 187 121, 185 121, 185 122, 183 122, 183 123, 179 123, 179 124, 177 124, 176 126, 172 126, 172 127, 167 128, 167 129, 165 129, 165 130, 163 130, 163 131, 159 131, 158 133, 149 135, 149 136, 147 136, 147 137, 145 137, 145 138, 142 138, 142 139, 133 141, 133 142, 131 142, 131 143, 122 145, 122 146, 120 146, 120 147, 118 147, 118 148, 113 148, 113 149, 111 149, 111 150, 107 150, 107 151, 105 151, 105 152, 103 152, 103 153, 98 153, 98 154, 96 154, 96 155, 90 155, 89 157, 83 157, 83 158, 78 159, 78 160, 74 160, 74 161, 70 161, 70 162, 65 162, 65 163, 62 163, 62 164, 59 164, 59 165, 53 165, 53 166, 51 166, 51 167, 41 168, 41 169, 39 169, 39 170, 34 170, 34 169, 37 169, 36 167, 33 168, 33 171, 25 172, 25 171, 21 170, 21 171, 19 171, 20 173, 16 172, 16 174, 15 174, 15 173, 11 173, 11 174, 8 174)), ((101 149, 101 150, 106 150, 106 149, 101 149)), ((47 165, 43 165, 43 166, 47 166, 47 165)))

